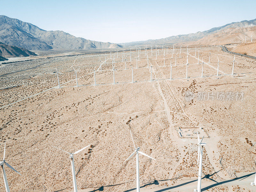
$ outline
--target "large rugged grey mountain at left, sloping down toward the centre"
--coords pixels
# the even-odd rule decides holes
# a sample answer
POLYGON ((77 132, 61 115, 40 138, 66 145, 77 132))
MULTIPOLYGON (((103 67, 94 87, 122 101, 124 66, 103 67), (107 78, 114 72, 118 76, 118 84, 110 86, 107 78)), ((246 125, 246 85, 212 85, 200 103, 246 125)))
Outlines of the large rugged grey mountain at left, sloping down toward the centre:
POLYGON ((120 48, 122 45, 91 41, 64 31, 46 31, 31 23, 0 15, 0 41, 28 50, 120 48))

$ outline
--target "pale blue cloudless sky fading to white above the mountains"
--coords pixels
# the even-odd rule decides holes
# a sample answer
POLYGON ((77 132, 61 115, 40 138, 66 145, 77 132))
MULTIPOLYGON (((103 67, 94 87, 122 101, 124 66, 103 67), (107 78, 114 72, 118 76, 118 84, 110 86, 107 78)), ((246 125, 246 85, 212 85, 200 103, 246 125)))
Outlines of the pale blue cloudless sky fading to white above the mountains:
POLYGON ((256 0, 0 0, 0 14, 45 30, 123 43, 195 33, 256 18, 256 0))

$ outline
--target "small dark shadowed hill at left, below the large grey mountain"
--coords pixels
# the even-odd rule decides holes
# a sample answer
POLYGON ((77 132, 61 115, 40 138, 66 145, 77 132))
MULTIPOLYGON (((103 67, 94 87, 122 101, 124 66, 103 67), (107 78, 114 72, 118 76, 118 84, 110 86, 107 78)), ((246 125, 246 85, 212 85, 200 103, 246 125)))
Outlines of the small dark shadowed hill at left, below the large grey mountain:
POLYGON ((27 57, 36 55, 36 53, 28 51, 27 49, 6 45, 0 42, 0 56, 4 57, 27 57))

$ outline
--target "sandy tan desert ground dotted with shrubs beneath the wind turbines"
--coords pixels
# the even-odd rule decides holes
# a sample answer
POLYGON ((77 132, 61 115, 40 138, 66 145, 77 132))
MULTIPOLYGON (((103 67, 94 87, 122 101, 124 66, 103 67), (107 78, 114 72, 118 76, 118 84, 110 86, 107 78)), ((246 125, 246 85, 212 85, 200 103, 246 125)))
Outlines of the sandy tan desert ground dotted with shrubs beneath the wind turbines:
POLYGON ((136 147, 156 159, 140 156, 142 192, 196 188, 197 131, 206 143, 202 191, 256 191, 256 148, 249 150, 256 142, 256 61, 236 56, 232 76, 234 56, 219 46, 181 54, 172 46, 133 48, 118 50, 118 58, 116 51, 115 84, 106 50, 45 51, 37 60, 0 63, 0 154, 6 144, 6 161, 22 174, 6 168, 11 190, 71 192, 69 155, 53 147, 73 153, 90 145, 74 155, 79 192, 136 191, 135 157, 124 162, 134 150, 131 130, 136 147))

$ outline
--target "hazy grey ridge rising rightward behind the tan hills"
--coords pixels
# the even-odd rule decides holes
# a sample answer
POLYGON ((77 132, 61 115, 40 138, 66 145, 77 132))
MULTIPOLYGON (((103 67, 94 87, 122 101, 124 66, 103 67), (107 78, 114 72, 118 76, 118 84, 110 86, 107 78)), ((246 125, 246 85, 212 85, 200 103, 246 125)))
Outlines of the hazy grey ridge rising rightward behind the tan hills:
POLYGON ((196 32, 196 33, 190 33, 187 35, 177 35, 177 36, 170 36, 162 39, 149 39, 146 41, 137 41, 137 42, 130 42, 130 43, 125 43, 126 46, 132 46, 132 45, 140 45, 140 44, 174 44, 174 43, 180 43, 180 42, 185 42, 185 41, 196 41, 199 40, 205 36, 208 36, 210 34, 219 32, 223 29, 228 29, 228 28, 236 28, 236 27, 242 27, 245 25, 250 25, 250 24, 255 24, 256 25, 256 19, 254 20, 244 20, 240 22, 233 22, 233 23, 228 23, 226 25, 223 25, 221 27, 215 27, 211 28, 209 30, 203 31, 203 32, 196 32))

